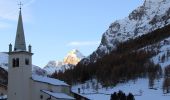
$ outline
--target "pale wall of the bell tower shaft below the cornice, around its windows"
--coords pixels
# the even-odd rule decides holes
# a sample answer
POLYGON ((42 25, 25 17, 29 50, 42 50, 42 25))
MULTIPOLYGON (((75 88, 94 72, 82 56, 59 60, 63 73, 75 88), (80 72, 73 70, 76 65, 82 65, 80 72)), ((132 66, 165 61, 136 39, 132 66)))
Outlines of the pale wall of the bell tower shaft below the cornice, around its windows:
POLYGON ((31 59, 31 56, 25 53, 9 55, 8 100, 30 100, 31 65, 25 65, 25 58, 31 59), (13 67, 13 58, 19 58, 19 67, 13 67))

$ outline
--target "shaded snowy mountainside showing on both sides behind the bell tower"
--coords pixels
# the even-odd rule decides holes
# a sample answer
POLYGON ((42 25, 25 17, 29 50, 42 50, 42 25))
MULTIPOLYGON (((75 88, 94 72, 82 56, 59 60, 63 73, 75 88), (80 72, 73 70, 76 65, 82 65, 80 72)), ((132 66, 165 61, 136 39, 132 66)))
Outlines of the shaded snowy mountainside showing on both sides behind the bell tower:
MULTIPOLYGON (((0 52, 0 67, 8 71, 8 54, 0 52)), ((38 66, 32 65, 32 74, 46 75, 46 71, 38 66)))

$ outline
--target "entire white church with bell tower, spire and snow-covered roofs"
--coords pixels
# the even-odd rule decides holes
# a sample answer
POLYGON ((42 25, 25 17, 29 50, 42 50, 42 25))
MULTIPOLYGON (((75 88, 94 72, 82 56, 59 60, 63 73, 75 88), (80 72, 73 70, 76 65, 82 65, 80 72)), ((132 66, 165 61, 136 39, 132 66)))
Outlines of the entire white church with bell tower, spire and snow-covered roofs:
POLYGON ((21 9, 14 49, 9 45, 8 100, 75 100, 63 81, 32 75, 31 45, 26 48, 21 9))

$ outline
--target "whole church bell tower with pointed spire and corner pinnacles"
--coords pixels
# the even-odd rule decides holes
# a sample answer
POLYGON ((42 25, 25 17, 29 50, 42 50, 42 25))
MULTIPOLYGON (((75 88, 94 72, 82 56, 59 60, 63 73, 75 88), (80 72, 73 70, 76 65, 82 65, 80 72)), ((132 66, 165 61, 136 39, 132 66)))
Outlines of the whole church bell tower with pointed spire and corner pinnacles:
POLYGON ((26 48, 21 8, 19 11, 15 46, 9 45, 8 100, 31 100, 30 78, 32 77, 31 46, 26 48))

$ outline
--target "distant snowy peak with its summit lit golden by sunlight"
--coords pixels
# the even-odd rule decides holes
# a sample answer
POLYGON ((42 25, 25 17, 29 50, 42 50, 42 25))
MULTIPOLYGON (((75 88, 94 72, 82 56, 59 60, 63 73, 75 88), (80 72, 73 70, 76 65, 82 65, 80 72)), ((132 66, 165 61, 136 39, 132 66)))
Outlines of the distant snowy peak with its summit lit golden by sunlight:
POLYGON ((64 57, 63 61, 49 61, 43 69, 48 74, 52 74, 55 71, 65 71, 74 67, 84 57, 80 51, 73 49, 64 57))

